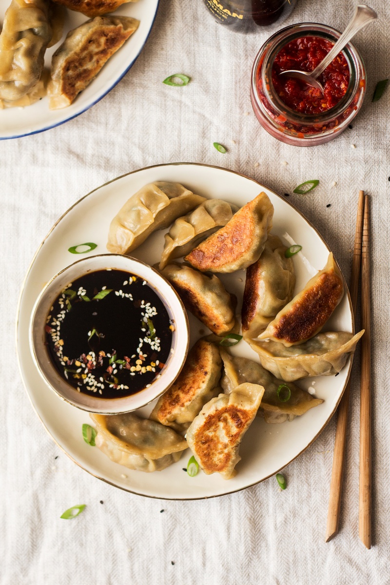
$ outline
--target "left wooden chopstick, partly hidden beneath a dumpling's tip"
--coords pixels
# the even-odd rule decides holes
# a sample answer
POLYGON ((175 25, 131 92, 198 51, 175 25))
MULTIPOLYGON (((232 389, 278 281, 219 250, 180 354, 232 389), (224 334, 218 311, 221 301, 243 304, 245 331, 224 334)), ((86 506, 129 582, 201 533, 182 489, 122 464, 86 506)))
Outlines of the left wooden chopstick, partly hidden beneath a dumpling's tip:
MULTIPOLYGON (((360 276, 361 242, 363 236, 364 191, 360 191, 357 205, 354 254, 351 275, 351 303, 356 311, 360 276)), ((343 486, 344 456, 347 438, 348 410, 350 404, 350 380, 348 380, 337 411, 336 437, 334 438, 332 479, 330 480, 329 507, 327 512, 325 542, 332 540, 339 531, 341 487, 343 486)))

